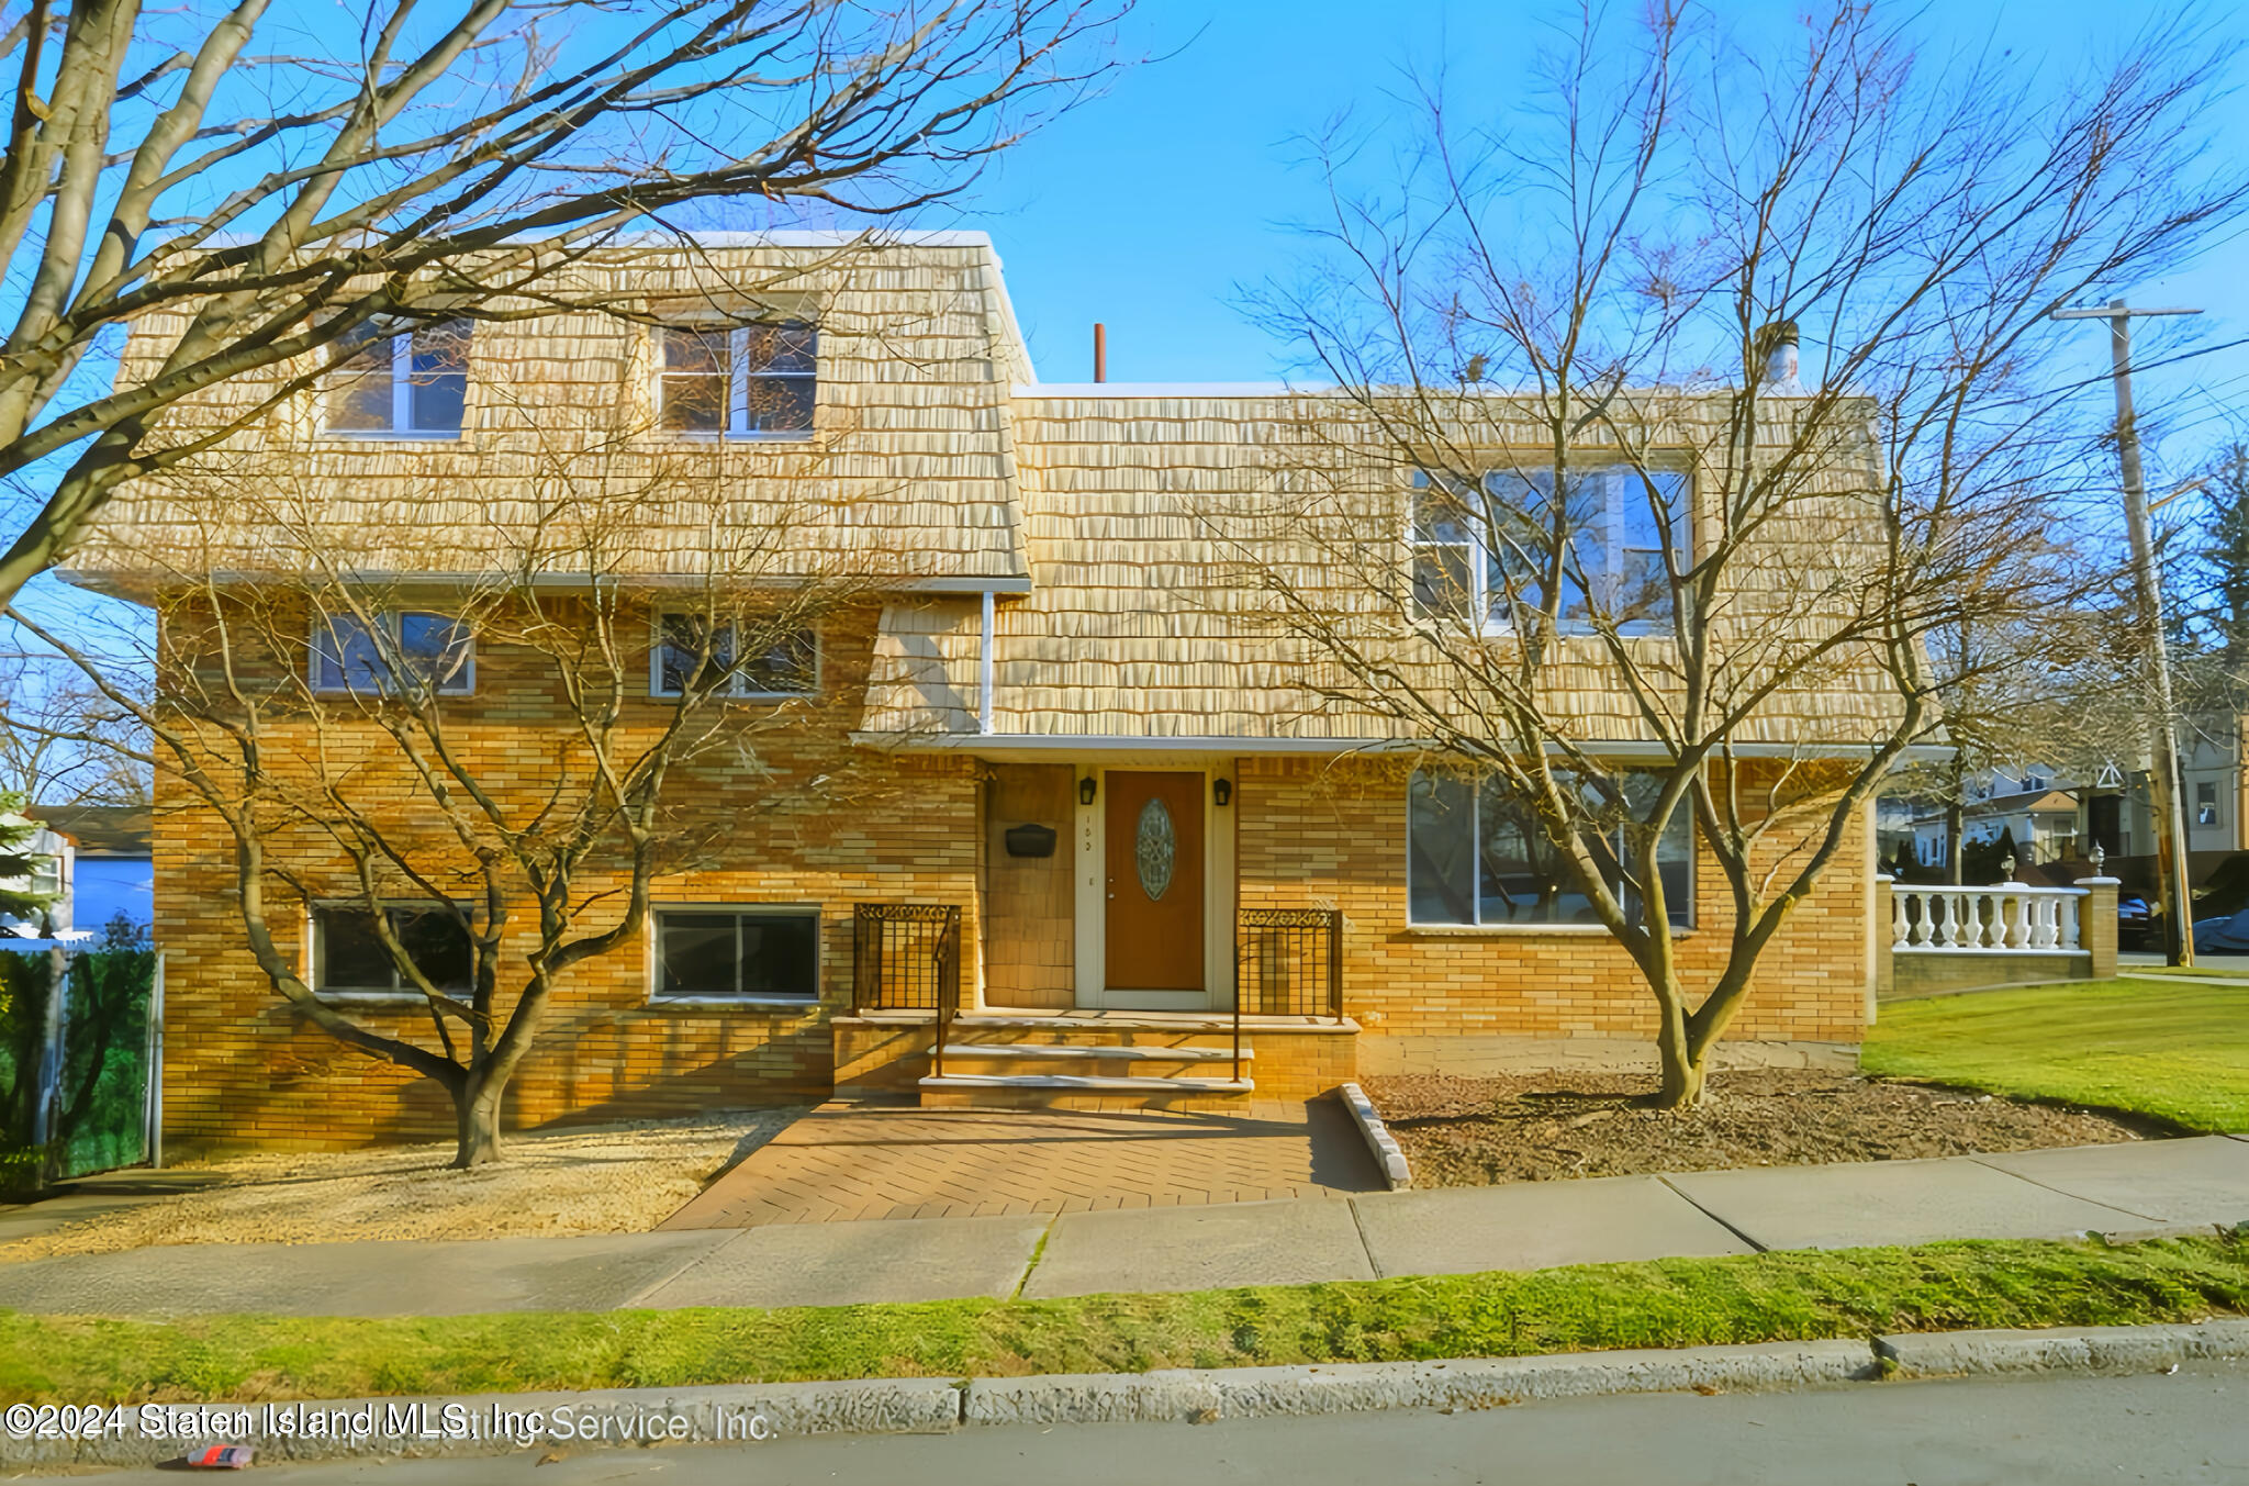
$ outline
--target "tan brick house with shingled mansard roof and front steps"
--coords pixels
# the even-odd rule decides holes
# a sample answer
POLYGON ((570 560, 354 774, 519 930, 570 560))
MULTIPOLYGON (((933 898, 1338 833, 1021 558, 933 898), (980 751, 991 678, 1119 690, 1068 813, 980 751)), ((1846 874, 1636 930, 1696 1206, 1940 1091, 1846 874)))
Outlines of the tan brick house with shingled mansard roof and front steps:
MULTIPOLYGON (((551 692, 506 645, 448 629, 445 605, 522 551, 538 481, 567 477, 547 450, 625 429, 612 443, 648 479, 717 481, 742 526, 819 490, 789 542, 861 562, 864 591, 753 688, 758 704, 803 701, 796 724, 751 762, 697 764, 681 798, 722 825, 713 854, 663 877, 645 924, 571 971, 511 1122, 839 1088, 1226 1104, 1356 1075, 1649 1057, 1651 998, 1509 803, 1424 771, 1417 740, 1322 697, 1313 661, 1248 614, 1239 544, 1208 517, 1286 477, 1295 393, 1039 382, 981 234, 848 252, 706 238, 569 272, 598 306, 400 337, 355 384, 277 396, 232 445, 254 479, 128 488, 70 573, 142 602, 202 576, 286 585, 317 533, 322 560, 418 594, 385 623, 459 656, 445 706, 475 728, 466 746, 522 753, 520 787, 538 789, 551 692), (711 330, 729 295, 751 324, 711 330), (279 531, 243 490, 304 524, 279 531), (760 809, 843 771, 850 794, 760 809)), ((162 328, 142 326, 128 357, 162 328)), ((1412 490, 1381 479, 1403 533, 1412 490)), ((663 594, 697 562, 688 526, 650 517, 612 580, 650 607, 639 724, 666 708, 663 594)), ((344 643, 308 634, 301 663, 315 690, 349 686, 344 643)), ((1873 690, 1777 697, 1743 749, 1862 755, 1873 690)), ((1590 737, 1644 749, 1615 697, 1579 701, 1590 737)), ((1743 1057, 1853 1057, 1871 852, 1860 823, 1765 955, 1732 1032, 1743 1057)), ((333 852, 308 845, 290 868, 349 897, 333 852)), ((166 1140, 450 1133, 436 1090, 277 1003, 232 917, 232 872, 225 830, 160 780, 166 1140)), ((1723 915, 1691 845, 1667 875, 1682 919, 1723 915)), ((353 1014, 423 1034, 427 1009, 391 971, 351 969, 353 913, 308 899, 292 924, 306 973, 353 1014)), ((1689 973, 1714 973, 1718 937, 1682 940, 1689 973)))

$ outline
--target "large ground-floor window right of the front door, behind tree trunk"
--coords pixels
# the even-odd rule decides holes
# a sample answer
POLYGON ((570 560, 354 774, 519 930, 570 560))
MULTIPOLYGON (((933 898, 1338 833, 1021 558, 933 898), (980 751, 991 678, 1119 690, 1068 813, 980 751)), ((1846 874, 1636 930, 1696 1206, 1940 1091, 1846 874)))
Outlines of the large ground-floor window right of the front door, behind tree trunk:
MULTIPOLYGON (((1653 773, 1624 773, 1622 789, 1624 812, 1637 816, 1653 805, 1662 780, 1653 773)), ((1606 812, 1595 807, 1590 814, 1597 818, 1606 812)), ((1619 863, 1628 859, 1631 832, 1622 821, 1606 827, 1601 839, 1619 863)), ((1664 917, 1673 928, 1689 928, 1693 823, 1685 807, 1671 814, 1655 845, 1655 870, 1664 886, 1664 917)), ((1640 884, 1622 879, 1615 892, 1626 917, 1640 922, 1640 884)), ((1406 796, 1406 917, 1415 924, 1484 928, 1599 924, 1561 845, 1527 800, 1498 780, 1430 771, 1415 771, 1406 796)))

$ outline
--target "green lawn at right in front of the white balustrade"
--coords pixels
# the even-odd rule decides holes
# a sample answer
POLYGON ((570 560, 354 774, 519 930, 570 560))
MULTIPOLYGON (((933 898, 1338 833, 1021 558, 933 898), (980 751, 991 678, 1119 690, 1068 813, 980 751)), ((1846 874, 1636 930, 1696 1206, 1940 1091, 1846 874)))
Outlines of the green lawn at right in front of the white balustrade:
POLYGON ((1860 1066, 2249 1131, 2249 982, 2089 980, 1887 1003, 1860 1066))

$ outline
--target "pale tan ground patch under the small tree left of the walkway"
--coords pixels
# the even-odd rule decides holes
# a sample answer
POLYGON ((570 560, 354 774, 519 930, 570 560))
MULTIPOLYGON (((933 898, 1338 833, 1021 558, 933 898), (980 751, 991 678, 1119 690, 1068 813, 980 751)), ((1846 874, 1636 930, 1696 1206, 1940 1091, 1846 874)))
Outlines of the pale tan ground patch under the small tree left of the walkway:
POLYGON ((511 1135, 448 1169, 452 1142, 180 1162, 223 1183, 0 1243, 0 1263, 157 1243, 340 1243, 648 1232, 803 1108, 511 1135))

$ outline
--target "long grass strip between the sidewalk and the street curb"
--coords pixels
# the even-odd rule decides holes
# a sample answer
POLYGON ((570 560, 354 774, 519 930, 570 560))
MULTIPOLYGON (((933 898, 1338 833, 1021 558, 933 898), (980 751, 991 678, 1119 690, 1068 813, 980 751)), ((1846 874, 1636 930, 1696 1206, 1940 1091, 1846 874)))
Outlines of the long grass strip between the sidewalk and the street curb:
POLYGON ((1383 1362, 2182 1322, 2249 1311, 2249 1241, 1963 1241, 1187 1295, 798 1311, 178 1322, 0 1313, 0 1403, 355 1398, 1383 1362))

